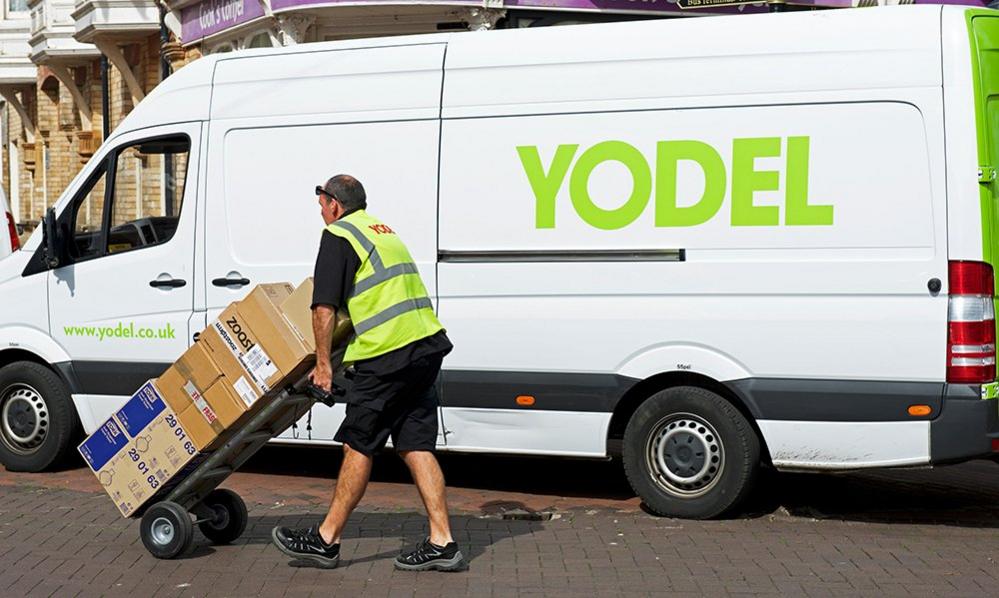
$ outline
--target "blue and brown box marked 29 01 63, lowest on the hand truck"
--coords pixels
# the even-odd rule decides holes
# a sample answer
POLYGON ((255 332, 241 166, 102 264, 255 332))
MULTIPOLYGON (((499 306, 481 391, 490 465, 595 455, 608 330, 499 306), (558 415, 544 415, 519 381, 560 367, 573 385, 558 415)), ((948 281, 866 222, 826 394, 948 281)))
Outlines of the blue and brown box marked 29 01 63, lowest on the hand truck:
POLYGON ((122 515, 135 513, 198 455, 152 381, 79 446, 122 515))

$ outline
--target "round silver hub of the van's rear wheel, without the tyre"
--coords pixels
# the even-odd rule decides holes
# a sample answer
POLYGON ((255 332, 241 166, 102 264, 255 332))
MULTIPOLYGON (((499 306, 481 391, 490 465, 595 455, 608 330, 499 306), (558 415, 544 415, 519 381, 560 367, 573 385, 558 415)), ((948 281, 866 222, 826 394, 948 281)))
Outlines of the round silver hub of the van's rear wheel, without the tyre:
POLYGON ((653 427, 646 451, 649 473, 663 490, 694 498, 710 490, 724 467, 718 433, 693 414, 670 415, 653 427))

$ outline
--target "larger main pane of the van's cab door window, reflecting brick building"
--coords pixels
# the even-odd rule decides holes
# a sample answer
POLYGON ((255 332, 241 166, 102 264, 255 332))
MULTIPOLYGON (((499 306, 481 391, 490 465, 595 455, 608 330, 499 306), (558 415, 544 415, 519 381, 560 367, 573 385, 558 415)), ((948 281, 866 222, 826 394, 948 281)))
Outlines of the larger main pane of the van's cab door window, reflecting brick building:
POLYGON ((109 254, 160 245, 177 231, 191 143, 143 141, 118 150, 111 195, 109 254))

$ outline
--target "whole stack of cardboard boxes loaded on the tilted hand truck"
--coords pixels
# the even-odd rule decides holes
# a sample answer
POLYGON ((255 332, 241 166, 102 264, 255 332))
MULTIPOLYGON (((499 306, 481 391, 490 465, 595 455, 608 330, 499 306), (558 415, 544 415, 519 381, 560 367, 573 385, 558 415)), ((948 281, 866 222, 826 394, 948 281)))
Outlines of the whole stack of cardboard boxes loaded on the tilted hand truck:
MULTIPOLYGON (((297 290, 257 286, 80 445, 123 515, 163 494, 308 373, 315 363, 311 295, 311 279, 297 290)), ((341 319, 341 340, 345 328, 349 320, 341 319)))

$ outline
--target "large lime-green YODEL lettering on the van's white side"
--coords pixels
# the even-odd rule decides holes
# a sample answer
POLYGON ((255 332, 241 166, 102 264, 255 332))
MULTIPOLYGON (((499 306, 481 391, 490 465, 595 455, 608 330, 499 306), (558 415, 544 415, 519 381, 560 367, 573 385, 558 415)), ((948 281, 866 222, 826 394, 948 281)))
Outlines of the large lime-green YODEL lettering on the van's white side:
POLYGON ((537 146, 517 147, 524 173, 534 191, 537 228, 555 228, 555 198, 566 177, 569 179, 569 198, 576 213, 590 226, 602 230, 616 230, 634 222, 653 195, 656 227, 704 224, 721 212, 729 191, 732 226, 780 226, 782 222, 785 226, 831 226, 833 223, 833 206, 809 202, 808 137, 733 139, 731 168, 727 167, 721 152, 696 140, 659 141, 652 165, 638 148, 624 141, 598 143, 577 158, 578 152, 578 144, 559 145, 546 168, 537 146), (783 172, 756 167, 757 158, 780 157, 784 157, 783 172), (678 197, 681 161, 693 162, 704 173, 704 191, 700 198, 678 197), (605 162, 624 165, 632 179, 631 195, 613 209, 596 205, 590 197, 590 175, 605 162), (757 192, 781 189, 784 191, 783 218, 780 206, 754 203, 757 192), (681 205, 681 199, 684 205, 681 205), (689 203, 691 199, 696 201, 689 203))

